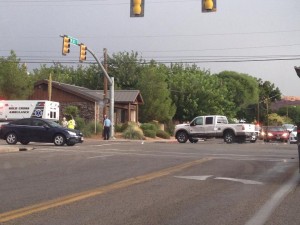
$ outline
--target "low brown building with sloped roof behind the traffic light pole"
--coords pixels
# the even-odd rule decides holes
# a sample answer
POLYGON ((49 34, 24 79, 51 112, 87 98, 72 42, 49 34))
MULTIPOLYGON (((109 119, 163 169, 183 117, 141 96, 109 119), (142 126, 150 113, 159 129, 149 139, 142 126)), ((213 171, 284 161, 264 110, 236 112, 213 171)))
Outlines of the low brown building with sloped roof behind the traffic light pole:
MULTIPOLYGON (((115 90, 114 121, 116 124, 138 122, 139 105, 143 98, 139 90, 115 90)), ((102 121, 103 113, 109 112, 110 96, 104 99, 103 90, 88 88, 48 80, 40 80, 34 85, 31 100, 51 100, 60 103, 60 115, 67 106, 76 106, 79 116, 85 120, 102 121), (51 91, 50 91, 51 90, 51 91)))

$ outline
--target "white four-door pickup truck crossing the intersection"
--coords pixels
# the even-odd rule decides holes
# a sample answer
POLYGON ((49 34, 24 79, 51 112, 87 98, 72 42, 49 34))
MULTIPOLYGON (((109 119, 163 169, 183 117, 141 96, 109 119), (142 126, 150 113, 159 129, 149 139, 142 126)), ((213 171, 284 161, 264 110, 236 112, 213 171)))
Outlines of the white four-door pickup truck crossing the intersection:
POLYGON ((175 126, 175 138, 179 143, 189 140, 196 143, 198 138, 223 138, 226 143, 256 142, 254 124, 229 124, 226 116, 198 116, 191 123, 175 126))

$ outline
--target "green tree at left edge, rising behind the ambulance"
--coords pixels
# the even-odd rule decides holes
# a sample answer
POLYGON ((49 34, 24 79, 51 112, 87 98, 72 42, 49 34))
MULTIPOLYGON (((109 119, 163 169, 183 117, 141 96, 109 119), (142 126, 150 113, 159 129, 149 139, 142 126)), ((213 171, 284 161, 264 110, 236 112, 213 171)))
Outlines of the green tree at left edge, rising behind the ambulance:
POLYGON ((26 99, 33 92, 32 79, 27 68, 20 64, 16 54, 11 51, 7 58, 0 58, 0 96, 5 99, 26 99))

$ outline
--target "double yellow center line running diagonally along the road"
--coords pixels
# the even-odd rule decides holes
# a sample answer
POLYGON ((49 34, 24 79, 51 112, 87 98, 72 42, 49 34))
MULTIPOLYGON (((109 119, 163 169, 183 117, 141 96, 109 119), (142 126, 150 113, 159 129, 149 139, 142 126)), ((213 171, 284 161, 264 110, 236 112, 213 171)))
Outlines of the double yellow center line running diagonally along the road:
POLYGON ((59 207, 59 206, 66 205, 66 204, 71 204, 71 203, 74 203, 77 201, 81 201, 81 200, 91 198, 91 197, 94 197, 97 195, 108 193, 108 192, 111 192, 114 190, 129 187, 134 184, 140 184, 140 183, 143 183, 146 181, 150 181, 150 180, 153 180, 156 178, 160 178, 160 177, 169 175, 174 172, 178 172, 180 170, 195 166, 195 165, 203 163, 203 162, 207 162, 211 159, 212 158, 203 158, 203 159, 187 162, 184 164, 169 167, 169 168, 166 168, 166 169, 163 169, 160 171, 156 171, 153 173, 148 173, 145 175, 125 179, 125 180, 122 180, 122 181, 119 181, 119 182, 116 182, 116 183, 113 183, 110 185, 106 185, 106 186, 103 186, 100 188, 96 188, 93 190, 84 191, 84 192, 80 192, 80 193, 76 193, 76 194, 71 194, 71 195, 67 195, 67 196, 53 199, 50 201, 46 201, 46 202, 31 205, 31 206, 27 206, 24 208, 1 213, 0 214, 0 222, 7 222, 7 221, 14 220, 14 219, 17 219, 17 218, 20 218, 23 216, 33 214, 33 213, 41 212, 41 211, 44 211, 47 209, 59 207))

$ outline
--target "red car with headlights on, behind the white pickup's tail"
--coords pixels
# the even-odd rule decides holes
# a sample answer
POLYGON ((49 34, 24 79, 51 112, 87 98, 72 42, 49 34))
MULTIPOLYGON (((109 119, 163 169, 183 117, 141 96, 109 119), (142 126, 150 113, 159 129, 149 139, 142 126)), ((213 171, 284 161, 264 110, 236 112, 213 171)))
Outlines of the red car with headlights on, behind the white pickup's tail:
POLYGON ((262 128, 262 139, 269 141, 284 141, 289 140, 289 132, 283 126, 266 126, 262 128))

